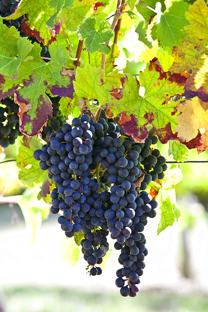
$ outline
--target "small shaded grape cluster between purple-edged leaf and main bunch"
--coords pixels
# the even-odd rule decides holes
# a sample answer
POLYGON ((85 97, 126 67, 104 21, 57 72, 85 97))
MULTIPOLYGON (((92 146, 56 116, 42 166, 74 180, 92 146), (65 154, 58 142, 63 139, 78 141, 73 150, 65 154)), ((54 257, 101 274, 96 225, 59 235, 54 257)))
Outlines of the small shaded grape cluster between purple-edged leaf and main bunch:
POLYGON ((46 134, 49 131, 58 130, 59 127, 63 126, 65 119, 63 114, 59 110, 60 97, 59 96, 51 97, 50 95, 48 96, 52 102, 53 116, 48 115, 47 125, 43 127, 43 131, 41 132, 42 139, 46 139, 46 134))

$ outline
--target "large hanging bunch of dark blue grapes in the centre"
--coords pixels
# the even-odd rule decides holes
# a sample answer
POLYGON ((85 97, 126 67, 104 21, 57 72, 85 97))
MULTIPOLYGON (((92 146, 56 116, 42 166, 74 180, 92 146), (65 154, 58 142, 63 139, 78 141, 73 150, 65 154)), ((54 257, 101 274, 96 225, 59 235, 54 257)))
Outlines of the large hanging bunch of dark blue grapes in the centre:
POLYGON ((116 272, 116 286, 122 296, 135 297, 148 253, 142 232, 157 207, 145 189, 163 178, 167 166, 155 148, 157 137, 135 143, 101 114, 98 122, 84 114, 72 125, 50 129, 48 143, 34 158, 55 184, 51 212, 61 214, 58 223, 65 235, 83 231, 81 246, 90 275, 102 273, 97 265, 109 250, 110 232, 123 266, 116 272))

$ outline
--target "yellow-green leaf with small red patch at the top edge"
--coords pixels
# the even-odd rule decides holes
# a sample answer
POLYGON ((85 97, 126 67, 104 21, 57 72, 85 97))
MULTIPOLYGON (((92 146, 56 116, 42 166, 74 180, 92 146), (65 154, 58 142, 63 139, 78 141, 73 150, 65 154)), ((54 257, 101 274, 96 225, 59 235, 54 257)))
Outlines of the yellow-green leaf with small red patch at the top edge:
POLYGON ((97 7, 96 3, 93 0, 75 0, 72 7, 65 8, 59 17, 65 24, 66 29, 75 32, 78 25, 82 24, 83 20, 89 16, 96 18, 96 27, 98 28, 100 22, 106 19, 107 14, 102 12, 102 7, 97 7))

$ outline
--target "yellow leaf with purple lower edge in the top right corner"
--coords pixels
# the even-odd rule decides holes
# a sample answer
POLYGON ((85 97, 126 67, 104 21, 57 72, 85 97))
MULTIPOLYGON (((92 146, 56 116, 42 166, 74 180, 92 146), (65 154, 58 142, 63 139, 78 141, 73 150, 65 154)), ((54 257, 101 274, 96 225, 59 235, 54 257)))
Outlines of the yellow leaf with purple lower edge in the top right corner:
POLYGON ((181 38, 181 45, 173 48, 174 62, 171 70, 183 72, 192 69, 192 75, 185 85, 184 96, 187 100, 198 96, 200 100, 207 102, 208 8, 205 2, 196 0, 190 5, 186 18, 190 25, 185 27, 186 36, 181 38))

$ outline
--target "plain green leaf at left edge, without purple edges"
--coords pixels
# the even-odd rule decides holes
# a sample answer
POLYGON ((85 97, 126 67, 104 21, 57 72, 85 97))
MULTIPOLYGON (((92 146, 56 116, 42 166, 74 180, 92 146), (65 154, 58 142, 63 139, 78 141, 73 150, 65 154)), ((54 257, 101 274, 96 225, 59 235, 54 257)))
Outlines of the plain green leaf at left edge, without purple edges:
POLYGON ((15 27, 8 28, 0 18, 0 73, 11 79, 17 79, 21 62, 31 60, 27 57, 32 49, 27 38, 22 38, 15 27))

